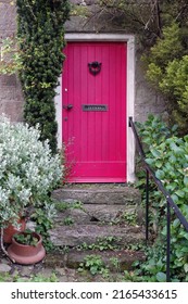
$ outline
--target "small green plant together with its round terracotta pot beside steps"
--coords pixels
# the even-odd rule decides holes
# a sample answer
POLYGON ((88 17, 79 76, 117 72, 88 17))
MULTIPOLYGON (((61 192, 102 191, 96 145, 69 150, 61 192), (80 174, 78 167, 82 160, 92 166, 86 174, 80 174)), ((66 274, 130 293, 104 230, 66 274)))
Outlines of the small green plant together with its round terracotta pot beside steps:
POLYGON ((40 262, 46 255, 41 236, 28 229, 15 233, 8 254, 12 261, 23 265, 40 262))

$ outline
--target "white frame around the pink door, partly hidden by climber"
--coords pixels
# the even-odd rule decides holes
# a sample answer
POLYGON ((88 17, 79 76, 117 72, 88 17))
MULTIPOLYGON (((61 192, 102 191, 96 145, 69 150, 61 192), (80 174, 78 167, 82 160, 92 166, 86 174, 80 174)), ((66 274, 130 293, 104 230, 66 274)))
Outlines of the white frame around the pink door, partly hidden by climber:
MULTIPOLYGON (((135 117, 135 36, 124 34, 65 34, 65 41, 122 41, 127 43, 127 182, 135 181, 135 140, 128 117, 135 117)), ((62 148, 62 77, 57 87, 55 110, 58 122, 58 147, 62 148)))

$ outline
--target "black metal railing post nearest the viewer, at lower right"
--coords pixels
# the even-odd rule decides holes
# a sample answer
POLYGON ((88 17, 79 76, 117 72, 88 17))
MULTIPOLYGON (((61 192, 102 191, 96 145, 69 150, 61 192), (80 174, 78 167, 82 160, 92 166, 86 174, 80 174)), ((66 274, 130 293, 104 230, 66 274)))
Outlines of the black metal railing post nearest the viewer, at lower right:
POLYGON ((167 201, 167 236, 166 236, 166 282, 171 282, 171 205, 167 201))

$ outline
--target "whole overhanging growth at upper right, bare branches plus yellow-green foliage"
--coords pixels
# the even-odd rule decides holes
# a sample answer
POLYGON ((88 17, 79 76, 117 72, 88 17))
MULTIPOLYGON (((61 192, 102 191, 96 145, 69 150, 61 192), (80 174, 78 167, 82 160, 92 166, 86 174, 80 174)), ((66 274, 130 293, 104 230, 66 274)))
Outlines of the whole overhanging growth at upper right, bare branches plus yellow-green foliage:
POLYGON ((136 34, 147 79, 163 94, 170 122, 187 134, 188 2, 187 0, 98 0, 115 25, 136 34))

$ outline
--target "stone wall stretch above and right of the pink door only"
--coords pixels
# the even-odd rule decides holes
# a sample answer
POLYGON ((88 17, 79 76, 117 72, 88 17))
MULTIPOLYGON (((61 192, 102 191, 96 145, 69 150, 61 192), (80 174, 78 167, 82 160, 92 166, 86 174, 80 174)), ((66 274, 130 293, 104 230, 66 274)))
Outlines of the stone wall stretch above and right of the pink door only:
MULTIPOLYGON (((73 15, 66 22, 66 31, 134 34, 137 36, 136 33, 130 31, 130 26, 125 21, 112 18, 111 14, 108 14, 105 10, 101 10, 97 5, 98 0, 71 0, 71 2, 76 4, 79 10, 83 10, 83 17, 73 15), (124 22, 124 26, 122 26, 122 22, 124 22)), ((146 81, 140 54, 139 43, 136 42, 135 119, 145 122, 150 113, 164 114, 165 102, 146 81)))

